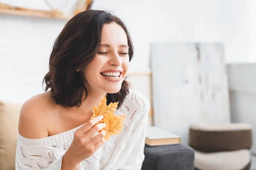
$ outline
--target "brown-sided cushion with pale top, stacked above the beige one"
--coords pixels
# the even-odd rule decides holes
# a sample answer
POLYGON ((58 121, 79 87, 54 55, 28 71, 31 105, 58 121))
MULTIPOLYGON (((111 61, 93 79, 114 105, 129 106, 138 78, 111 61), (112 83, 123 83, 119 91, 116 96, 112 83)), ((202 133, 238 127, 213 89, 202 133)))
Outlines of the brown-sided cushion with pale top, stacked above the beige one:
POLYGON ((193 124, 189 129, 189 146, 202 152, 250 149, 252 127, 243 123, 193 124))

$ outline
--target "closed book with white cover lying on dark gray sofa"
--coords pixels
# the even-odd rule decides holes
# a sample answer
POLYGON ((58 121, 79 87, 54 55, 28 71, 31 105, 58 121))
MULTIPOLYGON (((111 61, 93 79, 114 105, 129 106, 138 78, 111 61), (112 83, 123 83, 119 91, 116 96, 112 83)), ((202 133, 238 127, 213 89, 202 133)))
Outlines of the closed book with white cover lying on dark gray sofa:
POLYGON ((180 136, 167 132, 158 127, 147 127, 145 144, 149 146, 179 144, 180 140, 180 136))

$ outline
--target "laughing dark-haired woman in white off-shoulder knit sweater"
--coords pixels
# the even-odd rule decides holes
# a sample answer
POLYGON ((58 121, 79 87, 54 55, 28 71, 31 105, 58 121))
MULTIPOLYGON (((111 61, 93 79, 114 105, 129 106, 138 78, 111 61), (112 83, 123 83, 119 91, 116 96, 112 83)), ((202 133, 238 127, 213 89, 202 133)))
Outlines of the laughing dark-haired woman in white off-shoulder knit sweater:
POLYGON ((20 110, 16 170, 140 170, 149 104, 125 81, 132 57, 118 17, 91 10, 68 21, 53 45, 46 92, 20 110), (102 117, 90 119, 104 96, 126 115, 108 141, 105 125, 95 125, 102 117))

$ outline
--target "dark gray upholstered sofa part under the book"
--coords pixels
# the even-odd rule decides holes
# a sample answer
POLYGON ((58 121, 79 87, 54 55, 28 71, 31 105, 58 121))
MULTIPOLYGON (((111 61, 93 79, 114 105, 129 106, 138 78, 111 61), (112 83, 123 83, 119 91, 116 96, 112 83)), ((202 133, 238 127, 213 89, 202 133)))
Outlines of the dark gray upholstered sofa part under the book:
POLYGON ((148 146, 141 170, 194 170, 194 150, 184 144, 148 146))

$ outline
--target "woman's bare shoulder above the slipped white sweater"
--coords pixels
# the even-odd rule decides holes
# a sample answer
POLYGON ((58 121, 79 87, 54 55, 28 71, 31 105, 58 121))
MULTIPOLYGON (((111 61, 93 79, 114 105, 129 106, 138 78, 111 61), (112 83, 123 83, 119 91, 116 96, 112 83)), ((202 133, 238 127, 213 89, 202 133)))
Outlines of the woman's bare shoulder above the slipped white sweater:
POLYGON ((49 92, 38 94, 24 102, 18 126, 20 136, 28 139, 47 137, 47 119, 52 107, 49 92))

